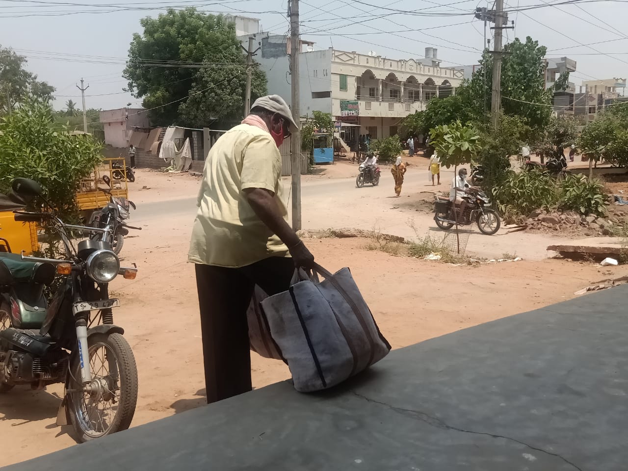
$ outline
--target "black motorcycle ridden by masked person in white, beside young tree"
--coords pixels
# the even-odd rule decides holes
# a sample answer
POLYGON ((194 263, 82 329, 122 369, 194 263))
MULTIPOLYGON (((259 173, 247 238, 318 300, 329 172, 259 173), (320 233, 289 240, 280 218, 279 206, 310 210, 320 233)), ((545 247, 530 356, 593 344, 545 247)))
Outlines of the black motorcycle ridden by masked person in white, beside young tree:
MULTIPOLYGON (((463 214, 458 215, 458 225, 471 225, 474 222, 482 234, 492 236, 501 226, 499 214, 490 208, 489 198, 484 192, 468 188, 462 197, 467 201, 463 214)), ((436 197, 434 220, 443 230, 452 229, 456 224, 453 203, 448 198, 436 197)))

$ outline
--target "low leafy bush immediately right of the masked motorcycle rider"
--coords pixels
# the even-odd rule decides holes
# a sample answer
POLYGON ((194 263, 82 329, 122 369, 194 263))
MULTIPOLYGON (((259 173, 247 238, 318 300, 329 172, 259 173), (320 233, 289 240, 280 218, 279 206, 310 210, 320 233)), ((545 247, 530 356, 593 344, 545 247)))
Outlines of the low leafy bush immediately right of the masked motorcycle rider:
POLYGON ((553 208, 560 195, 556 181, 538 170, 510 172, 498 187, 492 188, 499 211, 506 216, 528 215, 538 208, 553 208))

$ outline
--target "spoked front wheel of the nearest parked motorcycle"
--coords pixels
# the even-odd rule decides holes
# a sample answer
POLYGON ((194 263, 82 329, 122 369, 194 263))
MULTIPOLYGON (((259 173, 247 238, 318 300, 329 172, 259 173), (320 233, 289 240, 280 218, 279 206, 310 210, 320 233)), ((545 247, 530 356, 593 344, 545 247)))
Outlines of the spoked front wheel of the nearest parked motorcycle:
POLYGON ((66 396, 80 443, 129 428, 138 402, 138 367, 126 339, 119 333, 97 333, 88 342, 94 391, 84 391, 76 359, 66 396))

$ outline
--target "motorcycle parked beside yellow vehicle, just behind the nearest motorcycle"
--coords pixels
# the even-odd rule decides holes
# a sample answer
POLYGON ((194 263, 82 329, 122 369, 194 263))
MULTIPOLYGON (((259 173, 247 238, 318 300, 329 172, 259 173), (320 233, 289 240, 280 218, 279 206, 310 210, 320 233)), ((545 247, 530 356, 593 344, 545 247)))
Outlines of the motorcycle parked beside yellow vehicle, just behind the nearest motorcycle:
POLYGON ((105 190, 104 188, 99 188, 99 190, 109 197, 109 203, 100 211, 94 211, 92 213, 89 225, 100 229, 109 227, 109 230, 105 232, 93 232, 90 235, 90 239, 108 242, 114 253, 119 255, 124 245, 124 236, 129 235, 129 229, 142 230, 141 227, 134 227, 124 222, 124 220, 131 217, 131 207, 136 209, 136 206, 131 200, 122 197, 114 197, 109 190, 105 190))

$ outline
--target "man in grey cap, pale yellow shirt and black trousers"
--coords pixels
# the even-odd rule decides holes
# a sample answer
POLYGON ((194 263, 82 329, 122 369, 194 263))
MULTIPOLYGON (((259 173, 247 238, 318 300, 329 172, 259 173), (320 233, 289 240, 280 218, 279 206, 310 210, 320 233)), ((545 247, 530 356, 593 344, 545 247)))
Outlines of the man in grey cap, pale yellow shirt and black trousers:
POLYGON ((279 95, 212 146, 198 192, 188 261, 195 264, 207 403, 251 391, 247 308, 254 286, 287 291, 314 257, 288 225, 279 146, 298 129, 279 95))

